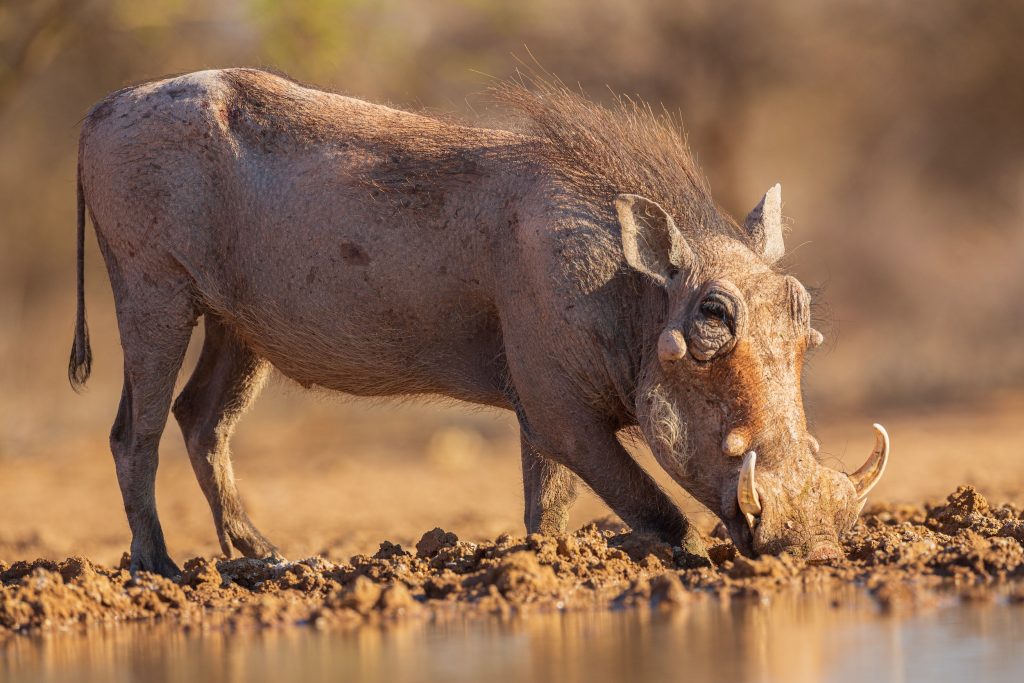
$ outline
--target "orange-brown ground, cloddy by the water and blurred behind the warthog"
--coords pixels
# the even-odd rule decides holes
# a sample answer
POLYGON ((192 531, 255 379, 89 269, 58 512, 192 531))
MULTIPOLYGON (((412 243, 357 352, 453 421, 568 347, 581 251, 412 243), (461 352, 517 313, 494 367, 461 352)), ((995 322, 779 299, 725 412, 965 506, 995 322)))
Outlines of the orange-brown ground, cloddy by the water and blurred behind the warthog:
MULTIPOLYGON (((886 477, 846 540, 848 560, 748 560, 712 539, 716 566, 684 570, 672 548, 622 533, 593 496, 573 509, 570 528, 581 530, 523 539, 511 418, 418 404, 339 405, 280 384, 267 394, 236 438, 240 488, 254 521, 287 557, 314 559, 215 559, 209 509, 169 425, 158 505, 172 556, 185 569, 180 583, 132 580, 117 568, 129 535, 105 447, 115 383, 97 383, 85 397, 54 392, 49 411, 16 394, 0 399, 0 633, 155 618, 210 629, 327 627, 453 613, 685 608, 695 600, 851 584, 899 610, 943 595, 1018 595, 1024 584, 1020 396, 971 410, 822 421, 813 432, 823 456, 847 470, 869 449, 872 420, 893 436, 886 477), (965 483, 972 487, 959 488, 965 483), (605 521, 588 525, 595 518, 605 521), (438 526, 452 536, 424 537, 438 526), (185 562, 189 557, 206 559, 185 562)), ((649 457, 638 457, 656 472, 649 457)), ((701 517, 667 477, 659 480, 712 536, 710 515, 701 517)))

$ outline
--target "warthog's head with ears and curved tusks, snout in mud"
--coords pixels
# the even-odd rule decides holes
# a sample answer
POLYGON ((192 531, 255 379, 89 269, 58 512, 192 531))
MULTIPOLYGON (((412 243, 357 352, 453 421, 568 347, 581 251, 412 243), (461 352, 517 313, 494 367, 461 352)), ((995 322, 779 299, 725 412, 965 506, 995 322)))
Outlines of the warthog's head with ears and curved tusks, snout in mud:
POLYGON ((644 349, 637 417, 658 462, 718 514, 745 554, 842 556, 889 457, 889 437, 853 474, 822 466, 801 395, 822 341, 810 296, 771 265, 782 256, 781 190, 746 217, 746 239, 687 240, 658 204, 621 195, 626 260, 667 294, 644 349))

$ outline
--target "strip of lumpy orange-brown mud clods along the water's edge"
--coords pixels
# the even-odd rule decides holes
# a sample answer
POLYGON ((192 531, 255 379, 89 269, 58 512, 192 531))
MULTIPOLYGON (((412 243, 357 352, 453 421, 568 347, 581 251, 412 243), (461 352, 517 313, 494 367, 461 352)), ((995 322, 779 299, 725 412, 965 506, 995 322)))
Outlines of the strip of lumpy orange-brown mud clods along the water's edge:
MULTIPOLYGON (((1024 516, 963 486, 941 505, 876 506, 844 543, 847 558, 746 558, 728 541, 714 567, 685 568, 682 550, 607 524, 563 537, 503 535, 469 543, 427 531, 411 553, 383 542, 347 562, 188 560, 177 581, 124 567, 0 562, 0 636, 132 620, 185 628, 317 628, 447 613, 509 615, 571 608, 677 609, 708 596, 756 596, 821 585, 863 586, 885 610, 934 604, 941 592, 984 600, 1024 595, 1024 516)), ((1015 597, 1016 596, 1016 597, 1015 597)))

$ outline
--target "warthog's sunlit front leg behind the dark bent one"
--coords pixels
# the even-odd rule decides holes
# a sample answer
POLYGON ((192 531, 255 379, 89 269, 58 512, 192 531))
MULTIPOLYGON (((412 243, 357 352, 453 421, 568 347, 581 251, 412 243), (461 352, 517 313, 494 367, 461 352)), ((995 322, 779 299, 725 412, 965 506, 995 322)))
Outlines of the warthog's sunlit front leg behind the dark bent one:
POLYGON ((527 533, 560 536, 569 522, 580 477, 569 468, 542 455, 520 431, 522 489, 526 501, 523 521, 527 533))

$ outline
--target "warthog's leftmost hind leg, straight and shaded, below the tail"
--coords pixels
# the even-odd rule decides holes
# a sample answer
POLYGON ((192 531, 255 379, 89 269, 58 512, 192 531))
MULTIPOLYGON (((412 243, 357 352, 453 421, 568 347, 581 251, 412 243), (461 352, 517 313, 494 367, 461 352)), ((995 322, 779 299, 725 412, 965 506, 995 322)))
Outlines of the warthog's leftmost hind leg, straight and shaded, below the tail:
POLYGON ((174 577, 180 571, 157 516, 158 446, 196 314, 185 283, 126 284, 115 269, 111 274, 125 362, 111 452, 131 528, 130 568, 174 577))

